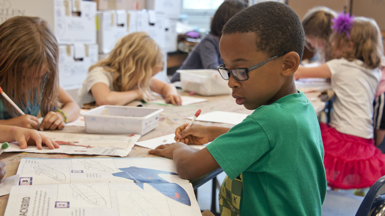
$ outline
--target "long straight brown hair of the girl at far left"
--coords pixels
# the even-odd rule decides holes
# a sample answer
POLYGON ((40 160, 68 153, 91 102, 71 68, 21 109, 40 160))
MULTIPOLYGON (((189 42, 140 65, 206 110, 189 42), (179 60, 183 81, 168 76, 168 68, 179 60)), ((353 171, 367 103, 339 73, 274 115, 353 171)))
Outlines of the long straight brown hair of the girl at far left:
MULTIPOLYGON (((20 108, 40 103, 45 116, 59 105, 58 60, 55 35, 41 18, 12 17, 0 25, 0 86, 20 108), (44 68, 48 72, 37 80, 44 68)), ((1 100, 17 116, 10 103, 1 100)))

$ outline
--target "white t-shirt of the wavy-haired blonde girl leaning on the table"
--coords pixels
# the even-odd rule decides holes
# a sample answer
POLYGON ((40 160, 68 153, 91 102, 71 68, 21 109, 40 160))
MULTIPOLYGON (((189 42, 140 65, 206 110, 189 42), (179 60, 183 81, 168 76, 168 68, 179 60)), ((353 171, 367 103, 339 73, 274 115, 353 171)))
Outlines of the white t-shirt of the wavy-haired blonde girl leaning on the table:
POLYGON ((105 71, 102 67, 96 67, 87 74, 87 78, 83 81, 82 88, 78 91, 77 104, 82 107, 85 103, 95 101, 94 96, 90 93, 92 86, 96 83, 104 83, 111 91, 114 90, 112 74, 105 71))

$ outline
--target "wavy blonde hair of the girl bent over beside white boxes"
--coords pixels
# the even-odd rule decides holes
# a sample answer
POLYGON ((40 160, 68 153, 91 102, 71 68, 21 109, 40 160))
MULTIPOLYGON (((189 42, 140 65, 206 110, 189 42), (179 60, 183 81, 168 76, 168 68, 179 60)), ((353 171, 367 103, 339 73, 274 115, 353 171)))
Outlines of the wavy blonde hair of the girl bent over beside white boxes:
POLYGON ((105 60, 91 66, 103 67, 112 73, 116 91, 139 89, 148 100, 152 68, 163 67, 163 56, 159 46, 146 32, 134 32, 119 40, 105 60))

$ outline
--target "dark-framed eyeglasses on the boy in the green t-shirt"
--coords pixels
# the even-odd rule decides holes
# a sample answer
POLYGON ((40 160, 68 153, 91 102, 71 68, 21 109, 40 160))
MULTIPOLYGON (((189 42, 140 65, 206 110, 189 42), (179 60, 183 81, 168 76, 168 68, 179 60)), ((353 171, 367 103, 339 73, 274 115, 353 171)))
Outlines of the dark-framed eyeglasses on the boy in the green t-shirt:
POLYGON ((261 66, 263 66, 266 63, 268 63, 269 61, 271 61, 271 60, 273 60, 275 58, 278 58, 280 56, 283 56, 285 54, 286 53, 281 53, 280 55, 276 55, 274 57, 269 58, 268 60, 261 61, 258 64, 250 66, 248 68, 234 68, 234 69, 231 69, 231 70, 227 70, 224 67, 224 64, 223 64, 223 65, 218 66, 217 70, 221 74, 222 78, 224 78, 225 80, 229 80, 230 73, 231 73, 231 75, 233 75, 234 79, 236 79, 238 81, 245 81, 245 80, 247 80, 249 78, 248 73, 250 71, 252 71, 254 69, 257 69, 257 68, 260 68, 261 66))

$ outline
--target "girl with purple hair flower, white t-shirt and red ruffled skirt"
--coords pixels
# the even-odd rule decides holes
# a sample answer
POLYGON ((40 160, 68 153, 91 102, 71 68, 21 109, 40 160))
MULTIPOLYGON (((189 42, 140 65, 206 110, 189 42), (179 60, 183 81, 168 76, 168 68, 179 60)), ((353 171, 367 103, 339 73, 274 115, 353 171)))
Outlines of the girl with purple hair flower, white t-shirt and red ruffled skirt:
POLYGON ((328 185, 372 186, 385 175, 385 154, 374 145, 373 100, 381 78, 381 33, 371 18, 340 13, 333 20, 329 55, 318 67, 300 67, 294 78, 330 78, 335 92, 328 124, 320 123, 328 185))

